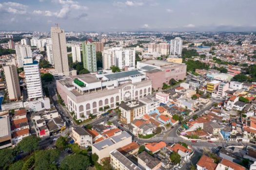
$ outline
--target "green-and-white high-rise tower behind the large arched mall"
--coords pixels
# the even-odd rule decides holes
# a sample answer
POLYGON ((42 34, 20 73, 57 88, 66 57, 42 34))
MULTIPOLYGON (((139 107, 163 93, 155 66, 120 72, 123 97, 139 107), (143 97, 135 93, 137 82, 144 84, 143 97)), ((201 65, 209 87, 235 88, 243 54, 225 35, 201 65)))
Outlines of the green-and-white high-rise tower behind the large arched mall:
POLYGON ((96 46, 94 43, 82 43, 83 67, 90 72, 97 71, 96 46))

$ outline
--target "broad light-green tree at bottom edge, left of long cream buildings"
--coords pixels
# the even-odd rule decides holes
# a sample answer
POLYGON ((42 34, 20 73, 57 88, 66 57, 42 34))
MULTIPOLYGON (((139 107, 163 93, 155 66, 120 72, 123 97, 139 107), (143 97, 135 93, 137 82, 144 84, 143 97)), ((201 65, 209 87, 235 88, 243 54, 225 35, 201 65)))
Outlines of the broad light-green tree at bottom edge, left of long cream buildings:
POLYGON ((88 156, 72 154, 64 157, 60 164, 61 170, 86 170, 90 166, 88 156))

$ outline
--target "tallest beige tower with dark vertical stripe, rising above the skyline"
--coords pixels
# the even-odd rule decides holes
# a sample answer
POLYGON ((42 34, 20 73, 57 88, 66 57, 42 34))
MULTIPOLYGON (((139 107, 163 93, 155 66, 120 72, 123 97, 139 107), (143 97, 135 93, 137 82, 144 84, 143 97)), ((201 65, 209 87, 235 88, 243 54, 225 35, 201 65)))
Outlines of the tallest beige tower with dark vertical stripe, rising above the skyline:
POLYGON ((59 26, 51 28, 54 67, 57 73, 69 74, 66 36, 59 26))

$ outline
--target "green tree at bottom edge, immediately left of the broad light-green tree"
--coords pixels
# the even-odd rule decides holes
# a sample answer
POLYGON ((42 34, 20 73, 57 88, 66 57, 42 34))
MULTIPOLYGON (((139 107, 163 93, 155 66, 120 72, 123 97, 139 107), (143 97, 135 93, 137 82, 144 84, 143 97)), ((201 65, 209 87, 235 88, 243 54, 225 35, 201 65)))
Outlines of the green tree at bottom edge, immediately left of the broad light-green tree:
POLYGON ((37 151, 35 153, 35 170, 56 170, 57 167, 54 162, 56 162, 58 158, 59 151, 56 149, 37 151))

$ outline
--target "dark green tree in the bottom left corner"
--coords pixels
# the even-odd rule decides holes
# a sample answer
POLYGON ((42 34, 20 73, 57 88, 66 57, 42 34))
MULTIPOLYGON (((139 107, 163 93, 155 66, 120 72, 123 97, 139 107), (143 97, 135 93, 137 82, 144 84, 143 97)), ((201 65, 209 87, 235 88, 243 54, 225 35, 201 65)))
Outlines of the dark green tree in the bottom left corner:
POLYGON ((0 168, 3 168, 11 164, 15 159, 13 150, 10 148, 5 148, 0 150, 0 168))

